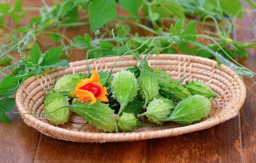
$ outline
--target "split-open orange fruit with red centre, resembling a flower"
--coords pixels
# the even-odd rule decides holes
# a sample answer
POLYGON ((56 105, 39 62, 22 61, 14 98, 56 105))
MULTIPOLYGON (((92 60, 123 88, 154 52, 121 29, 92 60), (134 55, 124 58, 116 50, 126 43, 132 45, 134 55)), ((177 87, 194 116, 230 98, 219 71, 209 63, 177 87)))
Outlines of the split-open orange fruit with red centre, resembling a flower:
POLYGON ((94 104, 98 99, 100 99, 101 102, 108 102, 106 87, 102 87, 102 85, 98 83, 98 72, 94 69, 92 71, 93 73, 90 78, 82 79, 77 83, 75 89, 76 97, 78 97, 82 103, 92 100, 91 104, 94 104))

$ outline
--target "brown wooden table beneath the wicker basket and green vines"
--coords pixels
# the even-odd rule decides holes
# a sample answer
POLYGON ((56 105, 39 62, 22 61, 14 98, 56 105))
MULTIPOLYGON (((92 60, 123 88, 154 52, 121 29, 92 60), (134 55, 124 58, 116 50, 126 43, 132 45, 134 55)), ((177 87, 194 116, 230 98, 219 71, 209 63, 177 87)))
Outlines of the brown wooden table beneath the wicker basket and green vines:
MULTIPOLYGON (((33 2, 33 1, 32 1, 33 2)), ((49 2, 49 1, 48 1, 49 2)), ((23 0, 23 6, 40 6, 23 0)), ((37 15, 37 11, 30 11, 37 15)), ((237 24, 252 27, 256 14, 248 13, 237 24)), ((22 25, 29 18, 22 20, 22 25)), ((15 27, 8 20, 9 26, 15 27)), ((139 28, 134 31, 143 32, 139 28)), ((88 26, 67 29, 72 38, 88 32, 88 26)), ((254 39, 253 30, 236 29, 239 41, 254 39)), ((49 41, 49 37, 41 37, 49 41)), ((49 46, 43 47, 47 50, 49 46)), ((249 57, 240 63, 256 72, 256 48, 248 49, 249 57)), ((14 53, 14 56, 19 56, 14 53)), ((74 50, 72 61, 84 59, 83 51, 74 50)), ((245 79, 250 89, 256 85, 245 79)), ((76 143, 53 139, 27 126, 20 115, 11 114, 11 123, 0 124, 1 163, 254 163, 256 162, 256 110, 255 96, 247 98, 238 116, 212 128, 175 137, 117 143, 76 143)))

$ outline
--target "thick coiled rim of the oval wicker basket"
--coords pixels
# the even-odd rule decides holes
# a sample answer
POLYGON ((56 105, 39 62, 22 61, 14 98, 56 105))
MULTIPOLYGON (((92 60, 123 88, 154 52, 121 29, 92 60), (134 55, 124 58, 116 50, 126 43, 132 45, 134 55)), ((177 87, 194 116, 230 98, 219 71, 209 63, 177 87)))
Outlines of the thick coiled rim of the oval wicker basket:
MULTIPOLYGON (((159 54, 159 56, 166 55, 166 54, 159 54)), ((167 54, 168 55, 168 54, 167 54)), ((184 58, 191 58, 193 57, 194 60, 197 60, 198 63, 200 62, 209 62, 211 65, 214 65, 214 67, 217 66, 216 61, 213 61, 211 59, 206 59, 202 57, 197 57, 197 56, 190 56, 190 55, 183 55, 183 54, 170 54, 170 55, 177 55, 178 57, 184 57, 184 58)), ((117 57, 106 57, 104 60, 110 59, 115 60, 117 57)), ((81 64, 82 61, 75 61, 70 63, 71 67, 74 67, 76 65, 81 64)), ((65 68, 56 68, 53 70, 50 70, 48 73, 56 72, 58 70, 62 70, 65 68)), ((243 81, 237 76, 236 72, 231 70, 230 67, 227 67, 226 65, 221 65, 218 67, 218 69, 225 70, 225 72, 228 72, 231 76, 236 78, 237 83, 240 85, 239 89, 240 91, 240 98, 237 102, 236 106, 232 106, 233 109, 230 111, 226 112, 225 115, 220 115, 216 117, 215 120, 207 120, 207 121, 202 121, 197 124, 192 124, 189 126, 182 126, 182 127, 176 127, 176 128, 167 128, 163 130, 155 130, 155 131, 143 131, 143 132, 130 132, 130 133, 91 133, 91 132, 81 132, 81 131, 75 131, 75 130, 68 130, 65 128, 60 128, 58 126, 52 126, 51 124, 47 124, 45 122, 42 122, 38 120, 34 115, 28 115, 28 114, 22 114, 21 117, 24 120, 24 122, 39 130, 41 133, 44 133, 46 135, 49 134, 49 136, 56 137, 58 139, 64 139, 64 140, 69 140, 69 141, 83 141, 83 142, 106 142, 106 141, 136 141, 136 140, 142 140, 142 139, 153 139, 153 138, 159 138, 159 137, 168 137, 168 136, 175 136, 175 135, 181 135, 184 133, 190 133, 196 130, 203 130, 206 128, 210 128, 212 126, 215 126, 216 124, 220 124, 225 122, 226 120, 229 120, 230 118, 235 117, 238 114, 239 109, 242 107, 243 103, 245 102, 245 97, 246 97, 246 88, 243 83, 243 81), (41 128, 44 128, 45 130, 42 131, 40 130, 41 128), (45 132, 46 131, 46 132, 45 132), (54 133, 53 135, 52 132, 54 133), (58 135, 61 135, 61 137, 58 137, 58 135), (70 139, 66 139, 67 137, 70 137, 70 139), (72 137, 79 137, 76 139, 72 139, 72 137)), ((21 102, 21 98, 24 98, 22 93, 24 93, 25 89, 25 83, 30 82, 32 79, 35 77, 32 76, 25 80, 24 83, 20 85, 18 88, 18 91, 16 93, 16 105, 18 108, 18 111, 20 113, 29 113, 27 109, 25 109, 23 103, 21 102)))

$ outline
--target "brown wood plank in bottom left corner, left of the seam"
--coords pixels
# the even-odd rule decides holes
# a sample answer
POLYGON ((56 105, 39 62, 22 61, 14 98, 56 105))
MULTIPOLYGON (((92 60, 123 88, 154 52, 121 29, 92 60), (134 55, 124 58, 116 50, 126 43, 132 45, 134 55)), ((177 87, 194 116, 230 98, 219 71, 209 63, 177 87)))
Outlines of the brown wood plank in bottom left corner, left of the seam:
POLYGON ((9 117, 11 123, 0 123, 0 162, 33 162, 40 133, 27 126, 20 115, 11 114, 9 117))

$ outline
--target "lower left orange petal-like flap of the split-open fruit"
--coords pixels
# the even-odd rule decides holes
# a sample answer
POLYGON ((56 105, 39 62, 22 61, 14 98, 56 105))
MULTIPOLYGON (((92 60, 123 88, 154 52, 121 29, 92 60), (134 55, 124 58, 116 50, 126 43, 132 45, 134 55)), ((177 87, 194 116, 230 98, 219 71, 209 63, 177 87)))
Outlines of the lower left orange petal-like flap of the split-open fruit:
POLYGON ((90 91, 83 90, 83 89, 75 89, 75 93, 76 93, 76 97, 78 97, 78 99, 82 103, 92 100, 91 104, 94 104, 97 101, 94 94, 90 91))

